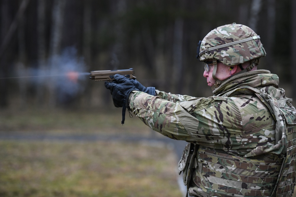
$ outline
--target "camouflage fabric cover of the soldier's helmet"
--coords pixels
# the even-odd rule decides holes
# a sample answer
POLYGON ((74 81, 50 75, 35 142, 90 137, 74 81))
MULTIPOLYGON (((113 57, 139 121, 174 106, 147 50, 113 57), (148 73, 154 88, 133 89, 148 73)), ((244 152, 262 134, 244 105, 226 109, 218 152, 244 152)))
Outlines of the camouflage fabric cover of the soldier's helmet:
POLYGON ((260 39, 230 45, 213 51, 206 50, 226 43, 233 43, 257 34, 245 25, 230 24, 217 27, 210 31, 200 45, 200 61, 216 59, 225 65, 237 65, 266 55, 260 39), (242 59, 241 59, 241 58, 242 59), (243 61, 242 61, 243 60, 243 61))

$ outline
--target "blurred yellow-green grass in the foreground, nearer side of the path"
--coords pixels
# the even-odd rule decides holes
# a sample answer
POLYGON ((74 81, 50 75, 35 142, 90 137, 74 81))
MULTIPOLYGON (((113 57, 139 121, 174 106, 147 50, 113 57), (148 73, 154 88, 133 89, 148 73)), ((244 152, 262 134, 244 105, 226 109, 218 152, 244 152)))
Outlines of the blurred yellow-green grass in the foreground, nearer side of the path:
POLYGON ((0 141, 0 196, 181 196, 165 147, 0 141))

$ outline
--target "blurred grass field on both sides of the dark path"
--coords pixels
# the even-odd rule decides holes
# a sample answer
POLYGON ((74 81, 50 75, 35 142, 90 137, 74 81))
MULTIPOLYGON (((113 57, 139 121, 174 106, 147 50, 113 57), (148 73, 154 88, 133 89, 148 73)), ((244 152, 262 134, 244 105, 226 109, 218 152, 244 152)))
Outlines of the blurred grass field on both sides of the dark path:
MULTIPOLYGON (((16 131, 48 136, 152 135, 134 119, 126 117, 122 126, 117 111, 1 111, 0 131, 4 135, 16 131)), ((0 140, 0 158, 0 196, 183 196, 177 184, 176 155, 162 143, 0 140)))

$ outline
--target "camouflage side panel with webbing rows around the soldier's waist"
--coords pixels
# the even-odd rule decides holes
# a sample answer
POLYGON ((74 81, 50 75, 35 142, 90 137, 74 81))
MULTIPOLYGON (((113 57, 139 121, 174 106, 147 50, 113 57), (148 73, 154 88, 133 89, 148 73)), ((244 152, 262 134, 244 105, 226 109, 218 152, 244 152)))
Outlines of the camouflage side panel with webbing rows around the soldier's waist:
POLYGON ((203 191, 231 196, 271 196, 281 160, 256 160, 198 150, 194 183, 203 191))

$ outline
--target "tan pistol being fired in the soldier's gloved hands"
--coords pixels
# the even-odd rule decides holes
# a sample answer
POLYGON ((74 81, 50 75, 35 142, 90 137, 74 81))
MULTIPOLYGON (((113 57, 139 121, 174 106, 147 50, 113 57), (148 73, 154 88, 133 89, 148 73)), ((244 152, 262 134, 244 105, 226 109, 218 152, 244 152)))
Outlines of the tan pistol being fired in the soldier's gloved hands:
POLYGON ((109 71, 91 71, 90 79, 94 79, 95 81, 111 81, 114 79, 115 74, 121 74, 130 79, 136 79, 133 74, 135 71, 133 69, 125 69, 125 70, 109 70, 109 71))

